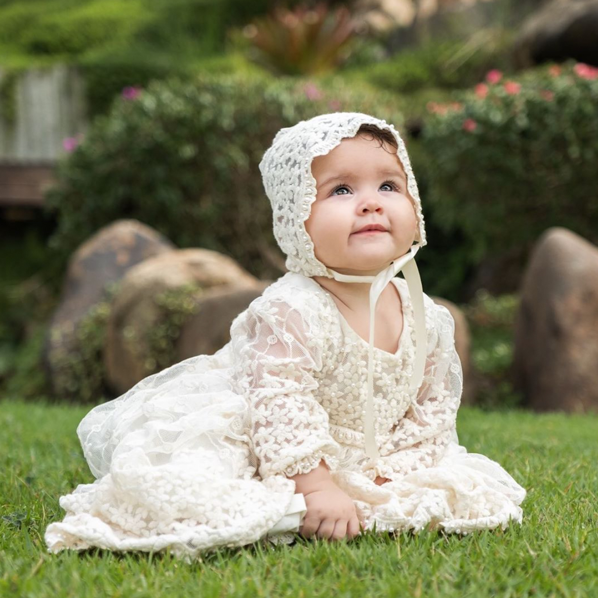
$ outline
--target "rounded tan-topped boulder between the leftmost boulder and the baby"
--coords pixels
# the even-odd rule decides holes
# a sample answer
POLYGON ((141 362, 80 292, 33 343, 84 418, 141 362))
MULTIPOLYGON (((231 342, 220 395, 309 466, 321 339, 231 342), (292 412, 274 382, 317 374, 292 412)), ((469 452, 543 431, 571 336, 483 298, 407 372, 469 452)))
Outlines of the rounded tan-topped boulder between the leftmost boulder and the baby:
MULTIPOLYGON (((112 301, 106 327, 103 356, 111 388, 121 394, 145 376, 170 365, 156 361, 156 350, 160 350, 160 345, 169 343, 166 337, 170 334, 178 336, 181 328, 184 328, 186 317, 191 316, 203 302, 211 301, 213 305, 218 302, 218 297, 223 300, 222 294, 252 289, 261 289, 258 279, 243 270, 236 261, 208 249, 170 251, 138 264, 121 281, 120 289, 112 301), (169 318, 178 307, 160 304, 160 298, 165 297, 167 291, 175 291, 179 294, 179 300, 188 304, 184 312, 177 316, 182 321, 170 326, 170 331, 169 318), (164 335, 162 339, 157 338, 160 331, 164 335)), ((255 291, 252 298, 260 292, 255 291)), ((251 292, 246 299, 249 296, 251 292)), ((247 304, 250 302, 248 299, 247 304)), ((228 307, 223 303, 219 314, 229 318, 234 307, 242 304, 243 301, 237 300, 235 303, 229 298, 228 307)), ((203 318, 210 318, 205 310, 203 318)), ((216 319, 216 316, 212 315, 212 318, 216 319)), ((221 324, 213 323, 212 331, 221 331, 221 324)), ((194 330, 201 333, 200 325, 196 324, 194 330)), ((169 353, 169 362, 177 361, 183 354, 190 356, 188 353, 192 350, 193 341, 188 334, 191 333, 184 334, 181 350, 173 348, 172 355, 170 346, 162 347, 169 353)), ((176 340, 171 340, 176 347, 176 340)), ((200 346, 201 341, 197 340, 196 343, 196 346, 200 346)), ((214 341, 209 343, 207 338, 206 346, 213 350, 219 348, 215 347, 214 341)))

